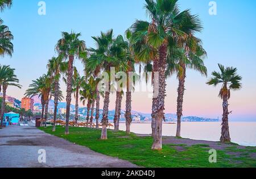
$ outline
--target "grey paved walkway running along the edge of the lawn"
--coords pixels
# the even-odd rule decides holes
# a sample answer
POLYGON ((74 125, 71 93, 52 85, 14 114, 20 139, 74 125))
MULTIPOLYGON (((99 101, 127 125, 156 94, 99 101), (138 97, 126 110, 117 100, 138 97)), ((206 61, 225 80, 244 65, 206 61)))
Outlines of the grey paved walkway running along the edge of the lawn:
POLYGON ((2 167, 134 168, 137 166, 72 144, 35 127, 9 126, 0 130, 0 168, 2 167), (46 150, 45 164, 38 162, 39 149, 46 150))

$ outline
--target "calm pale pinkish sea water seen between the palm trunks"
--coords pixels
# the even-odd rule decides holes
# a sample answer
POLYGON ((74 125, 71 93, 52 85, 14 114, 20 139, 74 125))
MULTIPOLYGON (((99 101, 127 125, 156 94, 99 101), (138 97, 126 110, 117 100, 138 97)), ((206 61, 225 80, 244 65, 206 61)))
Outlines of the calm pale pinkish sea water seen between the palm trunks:
MULTIPOLYGON (((246 146, 256 146, 256 122, 230 122, 230 136, 234 143, 246 146)), ((120 130, 125 130, 125 123, 120 123, 120 130)), ((151 134, 150 123, 133 123, 131 132, 151 134)), ((195 140, 219 141, 220 122, 182 122, 181 136, 195 140)), ((176 135, 176 124, 163 124, 164 136, 176 135)))

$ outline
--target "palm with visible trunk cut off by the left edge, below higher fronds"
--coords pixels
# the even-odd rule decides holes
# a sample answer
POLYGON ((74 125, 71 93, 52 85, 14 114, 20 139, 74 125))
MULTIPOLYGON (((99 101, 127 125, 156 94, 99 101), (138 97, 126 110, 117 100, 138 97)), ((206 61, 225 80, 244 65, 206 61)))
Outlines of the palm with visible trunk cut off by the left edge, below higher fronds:
MULTIPOLYGON (((2 69, 2 66, 1 68, 2 69)), ((6 76, 2 79, 2 88, 3 88, 3 99, 2 99, 2 108, 1 108, 1 126, 0 128, 3 127, 3 114, 5 113, 5 98, 6 98, 6 90, 8 86, 16 86, 18 88, 21 88, 21 85, 19 85, 19 80, 17 76, 14 74, 15 69, 13 68, 6 68, 8 71, 6 73, 6 76)))

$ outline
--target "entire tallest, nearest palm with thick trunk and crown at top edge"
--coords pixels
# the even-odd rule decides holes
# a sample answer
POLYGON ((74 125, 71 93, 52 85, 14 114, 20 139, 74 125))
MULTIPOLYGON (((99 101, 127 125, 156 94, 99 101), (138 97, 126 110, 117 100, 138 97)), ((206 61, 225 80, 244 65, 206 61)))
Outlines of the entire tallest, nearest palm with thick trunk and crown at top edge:
MULTIPOLYGON (((189 10, 180 13, 177 0, 166 0, 156 2, 146 0, 147 14, 152 19, 151 28, 148 28, 146 43, 158 51, 157 71, 158 79, 155 79, 154 85, 159 84, 158 98, 152 102, 152 130, 154 142, 152 149, 162 149, 162 121, 164 120, 164 98, 166 95, 166 68, 167 68, 167 49, 170 39, 184 38, 187 34, 182 31, 180 24, 183 23, 185 16, 189 10)), ((187 24, 190 26, 190 24, 187 24)), ((190 26, 191 34, 195 31, 200 31, 201 27, 190 26)), ((139 35, 137 35, 139 37, 139 35)), ((155 69, 155 68, 154 68, 155 69)))

